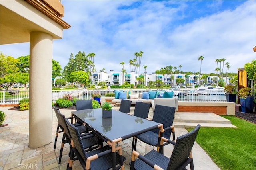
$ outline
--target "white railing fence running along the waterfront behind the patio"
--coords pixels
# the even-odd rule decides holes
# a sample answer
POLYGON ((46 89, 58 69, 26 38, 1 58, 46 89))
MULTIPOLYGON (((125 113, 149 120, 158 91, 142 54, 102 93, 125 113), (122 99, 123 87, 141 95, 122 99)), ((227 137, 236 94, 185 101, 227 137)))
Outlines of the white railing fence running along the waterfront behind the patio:
MULTIPOLYGON (((123 89, 131 90, 131 89, 123 89)), ((161 90, 170 91, 168 89, 150 89, 150 90, 161 90)), ((133 94, 148 92, 149 89, 132 89, 133 94)), ((173 90, 174 97, 178 98, 179 101, 189 102, 226 102, 226 94, 220 94, 221 90, 213 90, 208 94, 198 94, 198 90, 173 90)), ((100 93, 105 96, 106 93, 114 93, 114 89, 104 90, 52 90, 52 102, 56 99, 62 98, 65 94, 72 94, 78 99, 90 99, 92 94, 100 93)), ((223 92, 223 90, 222 90, 223 92)), ((6 104, 18 104, 21 99, 29 98, 29 90, 26 91, 0 91, 0 105, 6 104)))

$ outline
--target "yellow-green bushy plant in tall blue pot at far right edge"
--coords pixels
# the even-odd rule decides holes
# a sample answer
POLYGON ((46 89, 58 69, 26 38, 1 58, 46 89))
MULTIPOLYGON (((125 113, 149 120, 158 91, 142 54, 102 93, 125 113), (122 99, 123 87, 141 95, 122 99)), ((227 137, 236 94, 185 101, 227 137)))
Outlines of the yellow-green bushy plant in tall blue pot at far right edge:
POLYGON ((254 97, 249 96, 250 94, 252 94, 251 91, 252 91, 252 88, 249 88, 249 87, 241 88, 238 91, 238 96, 241 102, 242 113, 252 113, 253 111, 254 97))

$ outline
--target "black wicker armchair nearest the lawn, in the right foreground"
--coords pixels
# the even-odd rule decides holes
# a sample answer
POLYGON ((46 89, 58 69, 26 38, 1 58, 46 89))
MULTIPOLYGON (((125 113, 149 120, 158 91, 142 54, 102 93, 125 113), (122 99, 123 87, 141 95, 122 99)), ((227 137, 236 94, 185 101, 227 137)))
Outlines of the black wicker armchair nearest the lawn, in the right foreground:
POLYGON ((140 155, 134 150, 132 152, 130 169, 150 170, 152 168, 162 168, 164 170, 184 170, 186 166, 190 164, 190 170, 194 170, 192 147, 196 140, 199 129, 200 125, 197 125, 196 128, 191 132, 177 137, 176 142, 168 140, 164 137, 161 138, 161 145, 163 144, 163 141, 172 143, 174 145, 170 159, 154 149, 144 156, 140 155), (135 160, 135 156, 138 157, 137 160, 135 160))

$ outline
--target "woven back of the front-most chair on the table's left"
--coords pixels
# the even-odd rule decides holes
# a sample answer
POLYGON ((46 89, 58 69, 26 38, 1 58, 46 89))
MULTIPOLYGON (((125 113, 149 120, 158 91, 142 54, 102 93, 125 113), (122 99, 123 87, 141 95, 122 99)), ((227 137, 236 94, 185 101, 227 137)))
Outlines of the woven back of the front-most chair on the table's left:
MULTIPOLYGON (((72 125, 68 119, 66 118, 65 119, 67 125, 68 125, 68 129, 70 131, 70 135, 71 135, 71 138, 74 142, 74 147, 75 147, 75 154, 77 156, 77 158, 81 161, 81 158, 82 160, 84 161, 83 164, 85 164, 86 162, 86 152, 85 152, 85 149, 84 149, 84 145, 82 143, 82 139, 80 137, 80 134, 79 134, 79 130, 77 127, 75 127, 74 125, 72 125), (76 152, 77 151, 77 152, 76 152)), ((73 147, 73 146, 72 146, 73 147)))

